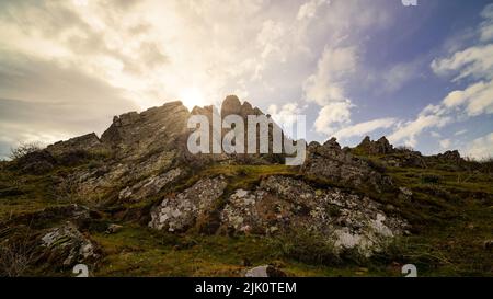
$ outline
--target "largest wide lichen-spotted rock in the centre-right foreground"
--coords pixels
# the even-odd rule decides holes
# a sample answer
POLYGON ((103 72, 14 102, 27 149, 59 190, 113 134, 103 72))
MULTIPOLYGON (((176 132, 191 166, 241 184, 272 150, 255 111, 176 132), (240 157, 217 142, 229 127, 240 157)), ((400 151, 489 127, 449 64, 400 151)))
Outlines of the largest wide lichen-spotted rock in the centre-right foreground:
POLYGON ((381 250, 408 227, 368 197, 337 188, 314 189, 284 176, 270 176, 254 191, 236 191, 221 212, 221 222, 238 232, 316 231, 336 249, 356 249, 365 256, 381 250))

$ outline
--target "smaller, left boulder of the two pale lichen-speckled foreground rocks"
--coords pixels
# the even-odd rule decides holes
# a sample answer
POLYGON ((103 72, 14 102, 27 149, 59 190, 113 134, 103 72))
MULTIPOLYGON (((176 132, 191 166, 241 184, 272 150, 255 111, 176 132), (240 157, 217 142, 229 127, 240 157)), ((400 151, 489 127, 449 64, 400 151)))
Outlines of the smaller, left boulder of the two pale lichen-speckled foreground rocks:
POLYGON ((151 212, 149 227, 168 231, 185 231, 198 217, 210 212, 223 194, 227 182, 223 176, 207 177, 177 195, 167 196, 151 212))

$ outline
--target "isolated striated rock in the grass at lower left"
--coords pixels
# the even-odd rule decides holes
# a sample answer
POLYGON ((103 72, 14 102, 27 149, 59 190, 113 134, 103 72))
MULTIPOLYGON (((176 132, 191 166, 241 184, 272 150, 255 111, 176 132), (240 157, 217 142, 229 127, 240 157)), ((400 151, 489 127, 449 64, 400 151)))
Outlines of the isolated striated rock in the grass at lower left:
POLYGON ((71 266, 99 257, 95 244, 71 222, 51 229, 41 239, 48 263, 71 266))

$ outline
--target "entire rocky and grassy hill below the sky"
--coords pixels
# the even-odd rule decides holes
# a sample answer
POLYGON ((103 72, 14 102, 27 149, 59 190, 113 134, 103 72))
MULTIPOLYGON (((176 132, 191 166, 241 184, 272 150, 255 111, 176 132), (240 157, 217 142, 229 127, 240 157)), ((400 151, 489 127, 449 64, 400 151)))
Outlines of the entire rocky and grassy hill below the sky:
POLYGON ((313 141, 295 166, 192 154, 192 115, 263 112, 234 95, 219 110, 169 102, 0 162, 0 275, 491 275, 491 161, 386 137, 313 141))

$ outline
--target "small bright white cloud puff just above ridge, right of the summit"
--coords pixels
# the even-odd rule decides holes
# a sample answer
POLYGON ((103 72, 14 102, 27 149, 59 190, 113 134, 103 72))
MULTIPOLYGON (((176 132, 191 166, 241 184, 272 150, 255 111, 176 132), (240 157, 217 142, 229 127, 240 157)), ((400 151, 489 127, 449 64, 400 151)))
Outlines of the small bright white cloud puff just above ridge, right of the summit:
POLYGON ((317 133, 332 135, 351 122, 351 101, 334 102, 323 106, 314 122, 317 133))

